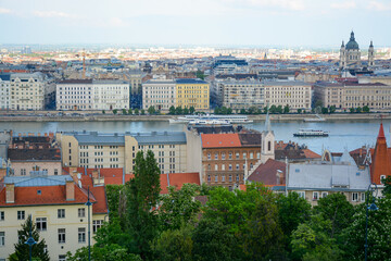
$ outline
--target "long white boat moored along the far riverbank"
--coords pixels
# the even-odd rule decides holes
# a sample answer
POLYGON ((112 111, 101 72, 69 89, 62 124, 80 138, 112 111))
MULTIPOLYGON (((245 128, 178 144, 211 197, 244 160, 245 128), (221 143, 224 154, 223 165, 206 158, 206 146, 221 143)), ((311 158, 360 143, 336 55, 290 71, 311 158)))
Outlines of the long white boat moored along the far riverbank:
POLYGON ((252 123, 252 120, 249 120, 247 115, 214 115, 214 114, 205 114, 205 115, 186 115, 178 116, 176 119, 169 119, 169 123, 189 123, 191 121, 197 120, 207 120, 207 121, 224 121, 225 124, 245 124, 252 123))

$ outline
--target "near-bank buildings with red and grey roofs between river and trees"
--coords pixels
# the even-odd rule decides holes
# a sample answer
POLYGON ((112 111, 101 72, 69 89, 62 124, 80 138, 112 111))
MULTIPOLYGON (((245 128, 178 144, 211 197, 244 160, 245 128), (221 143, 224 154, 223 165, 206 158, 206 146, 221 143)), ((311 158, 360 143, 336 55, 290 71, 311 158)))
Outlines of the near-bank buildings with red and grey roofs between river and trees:
POLYGON ((278 194, 295 191, 313 206, 335 192, 357 204, 365 201, 371 183, 381 189, 382 179, 391 175, 391 148, 382 124, 375 148, 321 154, 276 141, 268 116, 262 133, 235 126, 123 134, 4 130, 0 133, 0 260, 14 251, 17 229, 28 215, 52 260, 65 260, 67 251, 87 246, 88 229, 93 235, 109 219, 105 185, 128 182, 137 152, 147 150, 153 151, 161 170, 161 194, 186 183, 232 190, 261 182, 278 194), (90 212, 85 204, 88 198, 90 212))

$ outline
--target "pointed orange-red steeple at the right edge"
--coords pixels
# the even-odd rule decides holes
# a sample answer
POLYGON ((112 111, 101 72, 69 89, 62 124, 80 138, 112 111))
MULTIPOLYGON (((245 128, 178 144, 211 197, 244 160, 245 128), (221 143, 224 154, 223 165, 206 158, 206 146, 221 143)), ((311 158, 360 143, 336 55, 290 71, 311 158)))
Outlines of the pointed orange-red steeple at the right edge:
POLYGON ((391 164, 387 148, 384 129, 380 123, 379 135, 371 158, 370 178, 373 183, 381 185, 381 179, 391 176, 391 164))

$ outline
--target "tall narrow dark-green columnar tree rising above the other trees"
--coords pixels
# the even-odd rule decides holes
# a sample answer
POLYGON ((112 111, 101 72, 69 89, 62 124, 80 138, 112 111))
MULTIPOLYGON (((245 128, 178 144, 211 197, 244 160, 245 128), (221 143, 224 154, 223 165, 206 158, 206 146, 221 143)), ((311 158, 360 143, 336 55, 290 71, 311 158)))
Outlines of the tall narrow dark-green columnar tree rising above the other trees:
POLYGON ((159 233, 156 206, 160 198, 160 170, 154 154, 137 152, 135 177, 127 187, 127 226, 142 259, 151 257, 150 244, 159 233))

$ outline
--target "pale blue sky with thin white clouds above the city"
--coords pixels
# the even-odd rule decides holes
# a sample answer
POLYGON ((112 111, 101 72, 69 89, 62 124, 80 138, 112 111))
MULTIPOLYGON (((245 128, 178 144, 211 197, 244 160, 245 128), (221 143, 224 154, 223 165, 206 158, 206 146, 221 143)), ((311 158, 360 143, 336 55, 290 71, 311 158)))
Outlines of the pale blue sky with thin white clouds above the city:
POLYGON ((0 44, 391 46, 391 0, 0 0, 0 44))

